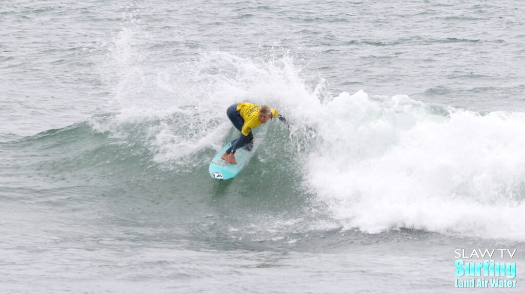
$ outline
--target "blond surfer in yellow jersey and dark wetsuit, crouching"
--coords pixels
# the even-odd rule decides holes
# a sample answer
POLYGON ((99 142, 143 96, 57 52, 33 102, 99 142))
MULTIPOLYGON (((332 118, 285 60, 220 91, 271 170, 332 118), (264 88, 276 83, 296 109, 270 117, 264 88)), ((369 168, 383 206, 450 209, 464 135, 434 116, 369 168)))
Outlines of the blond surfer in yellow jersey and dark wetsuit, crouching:
POLYGON ((237 164, 237 161, 235 161, 235 150, 254 139, 253 134, 251 134, 253 128, 265 124, 268 119, 274 117, 278 117, 281 122, 286 123, 286 119, 270 106, 248 102, 235 103, 229 106, 228 110, 226 110, 226 115, 228 115, 228 118, 235 128, 239 130, 240 134, 237 139, 232 141, 232 146, 220 158, 224 159, 226 164, 233 165, 237 164))

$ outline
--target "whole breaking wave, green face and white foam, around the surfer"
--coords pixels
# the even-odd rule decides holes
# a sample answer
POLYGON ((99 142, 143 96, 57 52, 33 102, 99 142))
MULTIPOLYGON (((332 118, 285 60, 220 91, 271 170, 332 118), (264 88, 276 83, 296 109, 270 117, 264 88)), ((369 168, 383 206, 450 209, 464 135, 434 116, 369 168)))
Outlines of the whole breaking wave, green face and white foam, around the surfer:
POLYGON ((182 199, 174 204, 185 215, 181 222, 195 209, 215 215, 199 201, 231 201, 221 213, 235 221, 224 230, 256 239, 400 228, 525 237, 515 225, 524 215, 523 113, 480 113, 364 91, 333 96, 323 80, 308 91, 293 60, 207 52, 151 76, 120 60, 117 70, 126 74, 114 89, 112 112, 4 144, 15 154, 40 154, 29 166, 63 178, 43 180, 42 189, 58 184, 85 198, 82 189, 92 182, 90 201, 110 194, 127 203, 119 208, 125 211, 135 207, 132 199, 182 197, 184 205, 182 199), (151 80, 137 84, 139 77, 151 80), (145 98, 144 84, 156 95, 145 98), (256 129, 248 167, 231 183, 217 183, 207 165, 236 136, 226 108, 244 100, 270 104, 291 126, 276 120, 256 129), (249 229, 254 223, 257 229, 249 229))

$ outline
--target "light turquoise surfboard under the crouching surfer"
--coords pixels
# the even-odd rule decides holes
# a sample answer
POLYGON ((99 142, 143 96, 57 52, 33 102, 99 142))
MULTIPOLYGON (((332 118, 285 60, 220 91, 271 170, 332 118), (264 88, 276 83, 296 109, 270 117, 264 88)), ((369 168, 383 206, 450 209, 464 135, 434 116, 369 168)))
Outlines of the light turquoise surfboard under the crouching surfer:
POLYGON ((226 150, 232 146, 232 143, 224 145, 222 149, 215 155, 212 159, 212 162, 209 164, 208 172, 209 176, 216 180, 229 180, 238 175, 238 173, 243 170, 243 168, 248 164, 251 156, 253 155, 253 146, 254 143, 244 145, 243 147, 235 151, 235 160, 237 161, 236 165, 225 164, 224 159, 220 158, 226 150))

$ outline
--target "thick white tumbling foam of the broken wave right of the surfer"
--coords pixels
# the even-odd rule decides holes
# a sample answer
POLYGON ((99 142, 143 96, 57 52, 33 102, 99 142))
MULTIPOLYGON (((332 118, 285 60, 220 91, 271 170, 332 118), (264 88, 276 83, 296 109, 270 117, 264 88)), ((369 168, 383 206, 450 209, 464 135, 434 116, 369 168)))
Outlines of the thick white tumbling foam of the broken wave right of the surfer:
POLYGON ((345 228, 525 238, 525 115, 342 93, 314 124, 307 186, 345 228))

